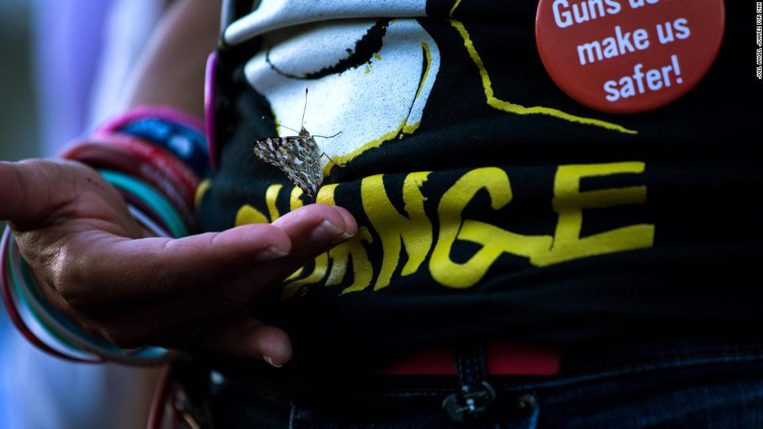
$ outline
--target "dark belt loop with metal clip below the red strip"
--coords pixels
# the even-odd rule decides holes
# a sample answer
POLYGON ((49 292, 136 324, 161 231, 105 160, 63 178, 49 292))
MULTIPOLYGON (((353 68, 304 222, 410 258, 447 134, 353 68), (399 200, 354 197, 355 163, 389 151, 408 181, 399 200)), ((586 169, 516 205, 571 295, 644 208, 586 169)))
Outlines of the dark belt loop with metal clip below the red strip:
POLYGON ((495 389, 488 383, 485 346, 456 348, 456 377, 461 389, 443 400, 443 410, 458 423, 484 415, 495 402, 495 389))

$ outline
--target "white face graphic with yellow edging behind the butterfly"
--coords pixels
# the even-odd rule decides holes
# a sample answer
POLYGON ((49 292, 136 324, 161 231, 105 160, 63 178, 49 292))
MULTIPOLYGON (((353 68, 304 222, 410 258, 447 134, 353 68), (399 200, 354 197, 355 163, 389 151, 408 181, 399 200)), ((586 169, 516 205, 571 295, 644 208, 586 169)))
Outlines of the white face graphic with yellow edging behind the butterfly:
MULTIPOLYGON (((250 85, 269 101, 278 123, 296 130, 309 88, 304 127, 324 136, 341 131, 316 139, 340 163, 413 133, 439 71, 439 49, 414 18, 302 24, 266 34, 262 48, 246 64, 250 85), (379 32, 381 25, 386 28, 379 32), (355 51, 374 31, 384 34, 381 46, 358 63, 355 51), (353 65, 343 66, 347 62, 353 65)), ((278 133, 295 135, 281 126, 278 133)))

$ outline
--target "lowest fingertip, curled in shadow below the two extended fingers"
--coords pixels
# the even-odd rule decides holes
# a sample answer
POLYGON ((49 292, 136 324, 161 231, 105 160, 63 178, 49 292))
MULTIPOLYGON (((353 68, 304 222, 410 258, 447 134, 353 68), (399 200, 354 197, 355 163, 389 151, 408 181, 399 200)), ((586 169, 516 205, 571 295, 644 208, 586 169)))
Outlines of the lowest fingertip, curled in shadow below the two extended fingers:
POLYGON ((248 315, 215 326, 204 335, 201 345, 235 357, 262 359, 273 367, 281 367, 291 359, 291 341, 286 332, 248 315))

